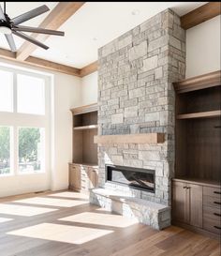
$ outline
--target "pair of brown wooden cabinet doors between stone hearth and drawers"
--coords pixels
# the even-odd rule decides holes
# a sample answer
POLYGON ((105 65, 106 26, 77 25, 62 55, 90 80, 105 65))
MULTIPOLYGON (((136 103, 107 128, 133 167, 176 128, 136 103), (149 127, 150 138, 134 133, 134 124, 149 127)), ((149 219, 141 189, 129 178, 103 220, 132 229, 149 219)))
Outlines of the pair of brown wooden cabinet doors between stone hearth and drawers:
POLYGON ((185 182, 173 182, 173 218, 202 227, 202 187, 185 182))

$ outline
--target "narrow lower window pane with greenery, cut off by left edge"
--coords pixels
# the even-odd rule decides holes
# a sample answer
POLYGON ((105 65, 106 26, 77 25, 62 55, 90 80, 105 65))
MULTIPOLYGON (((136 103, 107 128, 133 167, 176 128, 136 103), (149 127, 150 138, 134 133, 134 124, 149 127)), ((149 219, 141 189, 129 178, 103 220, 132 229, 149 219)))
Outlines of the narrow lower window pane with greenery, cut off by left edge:
POLYGON ((0 127, 0 174, 9 174, 11 167, 11 128, 0 127))

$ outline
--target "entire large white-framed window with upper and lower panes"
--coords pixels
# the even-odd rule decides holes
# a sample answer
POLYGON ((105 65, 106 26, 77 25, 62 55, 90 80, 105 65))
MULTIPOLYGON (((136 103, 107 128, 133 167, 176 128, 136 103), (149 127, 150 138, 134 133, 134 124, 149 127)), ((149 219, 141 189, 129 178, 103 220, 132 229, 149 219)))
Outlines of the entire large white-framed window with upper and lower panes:
POLYGON ((0 176, 45 173, 50 148, 49 77, 0 66, 0 78, 0 176))

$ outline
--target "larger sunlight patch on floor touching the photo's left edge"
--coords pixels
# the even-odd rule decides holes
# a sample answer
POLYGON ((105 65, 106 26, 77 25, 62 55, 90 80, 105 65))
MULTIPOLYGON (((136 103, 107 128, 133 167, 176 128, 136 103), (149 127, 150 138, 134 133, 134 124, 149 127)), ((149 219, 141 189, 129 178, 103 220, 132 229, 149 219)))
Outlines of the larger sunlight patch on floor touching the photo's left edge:
POLYGON ((15 205, 15 204, 0 204, 0 214, 8 214, 8 215, 18 215, 18 216, 36 216, 38 214, 50 213, 53 211, 57 211, 57 209, 52 208, 41 208, 41 207, 32 207, 32 206, 23 206, 23 205, 15 205))

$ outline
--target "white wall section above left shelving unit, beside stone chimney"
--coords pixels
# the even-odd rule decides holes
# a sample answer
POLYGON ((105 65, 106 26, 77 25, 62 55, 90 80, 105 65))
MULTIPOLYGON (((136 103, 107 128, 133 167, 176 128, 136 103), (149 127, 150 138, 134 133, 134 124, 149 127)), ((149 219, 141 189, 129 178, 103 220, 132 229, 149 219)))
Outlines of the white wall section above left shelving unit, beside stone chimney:
POLYGON ((98 76, 97 71, 81 79, 81 104, 88 105, 97 102, 98 76))

